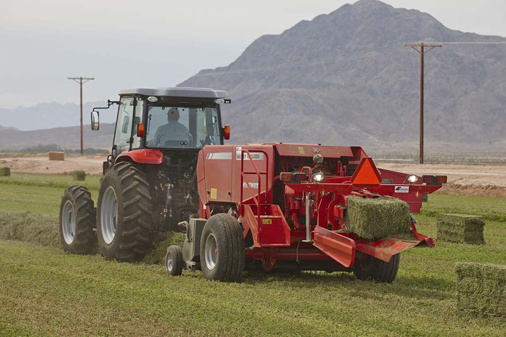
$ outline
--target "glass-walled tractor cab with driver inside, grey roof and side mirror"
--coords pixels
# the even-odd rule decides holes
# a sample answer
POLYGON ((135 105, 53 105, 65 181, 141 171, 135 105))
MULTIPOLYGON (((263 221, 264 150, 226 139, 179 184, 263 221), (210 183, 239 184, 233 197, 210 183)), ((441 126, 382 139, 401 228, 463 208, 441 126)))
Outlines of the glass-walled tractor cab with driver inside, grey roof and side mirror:
POLYGON ((220 104, 230 103, 227 96, 225 91, 207 88, 122 90, 119 101, 93 109, 92 130, 99 129, 98 110, 117 104, 112 163, 122 153, 137 149, 196 153, 205 145, 229 139, 230 128, 222 127, 220 111, 220 104))

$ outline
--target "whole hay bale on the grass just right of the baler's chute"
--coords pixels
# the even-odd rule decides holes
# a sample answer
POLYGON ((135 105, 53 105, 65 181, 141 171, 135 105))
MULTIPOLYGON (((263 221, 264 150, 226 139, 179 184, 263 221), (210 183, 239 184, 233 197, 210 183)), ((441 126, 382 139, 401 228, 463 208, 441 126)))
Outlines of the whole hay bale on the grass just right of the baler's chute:
POLYGON ((454 243, 485 244, 483 217, 466 214, 438 215, 438 240, 454 243))

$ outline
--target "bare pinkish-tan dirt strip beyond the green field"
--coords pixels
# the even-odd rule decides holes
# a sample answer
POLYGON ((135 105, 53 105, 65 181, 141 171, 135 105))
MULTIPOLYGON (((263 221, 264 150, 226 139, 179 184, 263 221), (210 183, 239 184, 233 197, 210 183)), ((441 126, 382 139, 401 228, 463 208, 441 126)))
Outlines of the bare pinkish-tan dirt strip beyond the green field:
MULTIPOLYGON (((11 167, 12 172, 65 173, 84 170, 88 174, 101 174, 106 154, 65 155, 64 161, 48 159, 47 154, 0 154, 0 166, 11 167)), ((448 176, 448 184, 441 192, 466 195, 506 196, 506 164, 436 164, 377 162, 378 167, 406 174, 434 174, 448 176)))

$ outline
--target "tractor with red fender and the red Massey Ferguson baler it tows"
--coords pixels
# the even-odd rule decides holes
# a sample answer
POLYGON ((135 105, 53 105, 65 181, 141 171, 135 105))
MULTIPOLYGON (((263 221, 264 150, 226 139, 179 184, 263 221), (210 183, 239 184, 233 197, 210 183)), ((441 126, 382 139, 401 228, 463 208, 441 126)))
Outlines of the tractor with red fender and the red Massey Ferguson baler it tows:
POLYGON ((104 257, 139 260, 154 231, 181 228, 183 248, 167 249, 170 275, 201 270, 207 279, 239 282, 245 269, 260 268, 348 271, 392 282, 400 252, 434 246, 410 213, 445 176, 420 180, 378 170, 360 147, 222 145, 230 134, 220 118, 226 97, 210 89, 136 89, 109 102, 119 110, 96 224, 89 192, 67 189, 60 211, 65 250, 89 252, 98 237, 104 257), (180 120, 184 128, 174 123, 180 120), (382 196, 407 203, 409 233, 371 239, 348 230, 349 198, 382 196))

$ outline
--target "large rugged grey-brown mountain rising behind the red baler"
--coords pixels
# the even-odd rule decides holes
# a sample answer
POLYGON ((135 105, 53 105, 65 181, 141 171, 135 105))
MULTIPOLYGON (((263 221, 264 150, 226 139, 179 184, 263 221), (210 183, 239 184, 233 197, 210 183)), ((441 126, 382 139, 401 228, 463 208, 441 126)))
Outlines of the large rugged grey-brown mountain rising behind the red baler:
MULTIPOLYGON (((181 87, 227 90, 235 143, 312 142, 415 150, 419 54, 408 41, 506 41, 445 27, 375 0, 256 39, 230 65, 181 87)), ((506 146, 506 45, 443 44, 425 56, 428 150, 506 146)))

